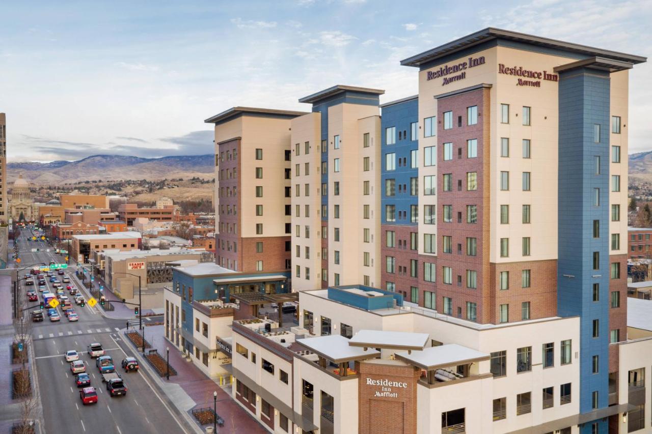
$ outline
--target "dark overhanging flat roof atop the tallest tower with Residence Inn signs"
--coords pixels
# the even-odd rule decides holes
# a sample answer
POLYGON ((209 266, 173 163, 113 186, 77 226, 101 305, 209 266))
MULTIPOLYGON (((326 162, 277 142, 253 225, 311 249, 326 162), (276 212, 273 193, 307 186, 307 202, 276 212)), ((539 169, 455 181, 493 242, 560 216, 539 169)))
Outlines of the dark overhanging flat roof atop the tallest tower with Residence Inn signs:
POLYGON ((408 57, 407 59, 403 59, 401 65, 421 66, 424 63, 434 61, 445 55, 464 50, 470 46, 481 44, 482 42, 492 39, 514 40, 517 42, 525 42, 526 44, 544 46, 547 48, 557 48, 559 50, 571 51, 586 56, 605 57, 606 59, 629 63, 643 63, 647 61, 647 58, 643 56, 620 53, 619 51, 603 50, 602 48, 573 44, 572 42, 527 35, 526 33, 518 33, 510 30, 496 29, 495 27, 487 27, 481 31, 462 36, 462 38, 458 38, 451 42, 447 42, 446 44, 408 57))

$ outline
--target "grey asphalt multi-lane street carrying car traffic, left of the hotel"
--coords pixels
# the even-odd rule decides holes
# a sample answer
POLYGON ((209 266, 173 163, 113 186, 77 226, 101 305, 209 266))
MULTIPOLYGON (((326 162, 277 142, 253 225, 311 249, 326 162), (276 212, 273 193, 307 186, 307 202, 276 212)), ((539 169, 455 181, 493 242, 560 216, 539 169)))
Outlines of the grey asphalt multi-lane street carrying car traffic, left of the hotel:
MULTIPOLYGON (((23 229, 18 240, 21 259, 18 268, 33 263, 49 264, 50 260, 65 262, 65 258, 57 255, 55 250, 46 252, 48 246, 45 242, 28 240, 28 235, 29 230, 23 229), (31 252, 31 249, 37 246, 41 252, 31 252)), ((74 277, 74 269, 75 267, 68 268, 66 274, 78 289, 82 289, 82 285, 74 277)), ((28 271, 29 268, 20 272, 19 277, 23 278, 28 271)), ((63 277, 56 276, 59 280, 63 277)), ((52 283, 47 278, 46 284, 54 292, 52 283)), ((38 284, 26 286, 25 282, 20 282, 20 291, 29 289, 35 289, 39 300, 42 300, 38 284)), ((68 291, 65 292, 68 295, 68 291)), ((83 290, 82 295, 88 299, 88 294, 83 290)), ((38 308, 37 302, 31 302, 29 305, 38 308)), ((183 422, 179 423, 179 415, 171 411, 173 405, 169 399, 152 386, 153 381, 144 368, 138 373, 124 373, 119 368, 121 360, 125 356, 133 355, 135 351, 134 347, 122 340, 122 332, 119 332, 119 328, 125 326, 125 320, 103 317, 98 306, 91 308, 86 304, 82 308, 73 303, 73 308, 79 315, 79 321, 69 322, 61 308, 57 308, 61 321, 51 323, 47 311, 44 311, 42 323, 31 323, 44 431, 48 434, 189 432, 183 422), (106 354, 113 358, 117 372, 122 375, 128 388, 126 396, 111 398, 107 394, 95 360, 85 352, 87 345, 94 342, 101 343, 106 354), (82 405, 74 375, 63 357, 65 351, 71 349, 82 354, 80 360, 87 366, 91 386, 95 386, 97 390, 96 404, 82 405)))

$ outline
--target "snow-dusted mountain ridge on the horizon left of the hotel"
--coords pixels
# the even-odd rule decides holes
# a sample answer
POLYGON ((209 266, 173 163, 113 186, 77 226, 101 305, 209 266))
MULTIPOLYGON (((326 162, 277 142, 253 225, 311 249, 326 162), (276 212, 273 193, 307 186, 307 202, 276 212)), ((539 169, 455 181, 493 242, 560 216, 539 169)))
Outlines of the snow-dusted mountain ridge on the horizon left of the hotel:
POLYGON ((126 179, 157 179, 201 177, 215 173, 213 154, 141 158, 122 155, 93 155, 77 161, 50 163, 8 163, 8 181, 22 173, 33 184, 78 181, 118 181, 126 179))

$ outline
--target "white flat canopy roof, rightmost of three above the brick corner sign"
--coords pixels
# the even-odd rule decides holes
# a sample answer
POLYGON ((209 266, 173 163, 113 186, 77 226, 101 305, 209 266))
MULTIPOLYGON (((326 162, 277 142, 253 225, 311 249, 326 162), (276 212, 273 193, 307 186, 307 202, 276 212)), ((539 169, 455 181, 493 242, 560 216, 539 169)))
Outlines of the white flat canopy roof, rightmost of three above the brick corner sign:
POLYGON ((487 353, 463 347, 456 343, 439 345, 439 347, 428 347, 422 351, 412 351, 411 354, 396 353, 394 356, 411 365, 426 369, 426 371, 445 368, 446 366, 480 362, 482 360, 489 360, 490 357, 487 353))

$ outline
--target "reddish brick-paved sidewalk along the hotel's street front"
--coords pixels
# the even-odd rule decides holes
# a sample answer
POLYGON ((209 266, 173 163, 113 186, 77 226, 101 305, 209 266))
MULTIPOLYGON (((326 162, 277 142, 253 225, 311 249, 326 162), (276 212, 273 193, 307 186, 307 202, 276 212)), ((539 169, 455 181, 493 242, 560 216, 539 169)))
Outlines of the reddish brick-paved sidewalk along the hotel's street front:
MULTIPOLYGON (((207 377, 192 362, 186 361, 183 354, 165 339, 164 334, 164 326, 149 326, 145 330, 145 339, 163 357, 166 356, 166 347, 170 347, 170 366, 173 366, 177 370, 177 375, 171 375, 169 382, 166 381, 165 377, 163 377, 162 381, 163 383, 177 384, 180 386, 180 391, 175 392, 175 389, 166 387, 164 387, 164 391, 168 394, 171 401, 175 402, 175 405, 178 406, 179 403, 183 402, 187 403, 186 408, 181 408, 181 411, 186 411, 188 414, 191 414, 192 409, 203 407, 213 409, 213 392, 217 392, 217 414, 224 419, 224 426, 217 428, 218 433, 263 434, 269 432, 252 418, 248 412, 237 405, 231 396, 220 388, 215 381, 207 377), (179 392, 185 392, 185 396, 179 396, 179 392)), ((149 365, 146 365, 145 368, 151 369, 149 365)), ((156 373, 154 375, 158 376, 156 373)), ((203 427, 205 428, 207 425, 203 427)))

